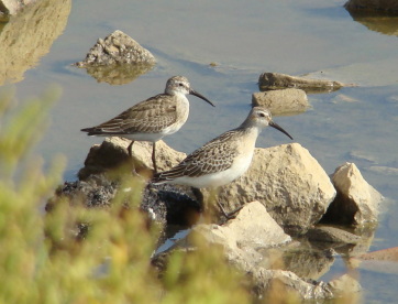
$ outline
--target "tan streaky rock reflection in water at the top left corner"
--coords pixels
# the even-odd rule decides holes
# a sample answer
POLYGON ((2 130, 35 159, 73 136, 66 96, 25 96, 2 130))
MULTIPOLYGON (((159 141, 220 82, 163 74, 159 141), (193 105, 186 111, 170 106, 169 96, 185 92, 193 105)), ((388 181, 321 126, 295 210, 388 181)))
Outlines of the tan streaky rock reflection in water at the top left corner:
POLYGON ((10 18, 0 32, 0 85, 21 82, 25 70, 48 53, 66 26, 70 4, 70 0, 37 1, 10 18))

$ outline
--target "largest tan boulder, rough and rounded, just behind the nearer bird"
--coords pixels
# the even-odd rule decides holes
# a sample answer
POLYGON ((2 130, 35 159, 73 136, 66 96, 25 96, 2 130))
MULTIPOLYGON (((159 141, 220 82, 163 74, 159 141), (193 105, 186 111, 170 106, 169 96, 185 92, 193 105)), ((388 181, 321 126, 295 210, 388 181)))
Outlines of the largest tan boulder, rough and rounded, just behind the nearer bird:
POLYGON ((317 160, 292 143, 256 149, 248 171, 221 187, 218 199, 226 211, 258 200, 285 231, 294 234, 318 222, 334 196, 335 189, 317 160))

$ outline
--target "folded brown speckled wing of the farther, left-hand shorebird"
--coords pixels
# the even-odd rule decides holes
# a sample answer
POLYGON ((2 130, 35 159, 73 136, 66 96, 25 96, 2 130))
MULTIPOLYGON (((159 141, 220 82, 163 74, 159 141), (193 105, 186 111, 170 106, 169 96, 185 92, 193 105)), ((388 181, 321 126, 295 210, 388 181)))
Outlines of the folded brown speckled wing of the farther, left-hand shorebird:
POLYGON ((95 134, 156 133, 177 120, 176 99, 166 94, 151 97, 115 118, 82 131, 95 134))

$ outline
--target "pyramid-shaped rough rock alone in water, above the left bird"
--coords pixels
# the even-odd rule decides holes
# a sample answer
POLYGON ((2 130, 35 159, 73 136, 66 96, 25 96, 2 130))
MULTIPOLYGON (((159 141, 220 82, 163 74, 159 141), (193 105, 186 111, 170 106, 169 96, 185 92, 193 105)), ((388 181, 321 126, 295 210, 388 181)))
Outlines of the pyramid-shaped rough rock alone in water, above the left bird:
POLYGON ((155 64, 156 59, 150 51, 142 47, 135 40, 114 31, 104 40, 99 39, 90 48, 86 58, 75 65, 78 67, 101 66, 113 64, 155 64))

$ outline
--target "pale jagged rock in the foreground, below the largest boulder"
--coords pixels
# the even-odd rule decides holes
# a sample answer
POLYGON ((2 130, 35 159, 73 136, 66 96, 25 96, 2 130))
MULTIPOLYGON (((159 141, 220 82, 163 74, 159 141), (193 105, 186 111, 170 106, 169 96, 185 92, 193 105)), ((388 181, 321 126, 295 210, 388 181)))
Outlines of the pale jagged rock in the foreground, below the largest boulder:
MULTIPOLYGON (((236 218, 229 220, 224 226, 195 227, 190 235, 177 242, 174 250, 181 245, 190 248, 189 240, 192 236, 196 239, 200 236, 207 242, 221 246, 229 263, 246 273, 251 287, 257 296, 273 296, 275 284, 278 284, 284 292, 292 293, 302 300, 332 298, 336 295, 334 291, 340 291, 336 284, 302 280, 291 271, 264 267, 266 257, 259 252, 261 249, 286 246, 290 237, 284 234, 258 202, 244 206, 236 218)), ((155 257, 154 264, 159 265, 165 261, 162 254, 159 257, 161 262, 155 257)), ((161 265, 162 268, 164 265, 161 265)))

